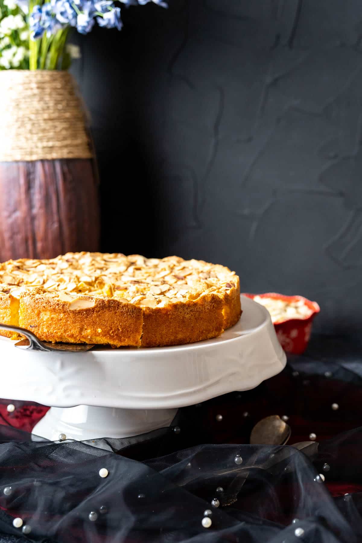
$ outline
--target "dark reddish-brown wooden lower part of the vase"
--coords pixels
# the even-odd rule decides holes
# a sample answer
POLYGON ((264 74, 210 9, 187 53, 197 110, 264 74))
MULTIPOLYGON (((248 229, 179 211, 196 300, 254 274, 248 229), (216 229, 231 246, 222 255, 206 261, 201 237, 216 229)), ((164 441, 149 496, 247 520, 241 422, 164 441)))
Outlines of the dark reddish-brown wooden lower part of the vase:
POLYGON ((0 162, 0 262, 99 249, 93 159, 0 162))

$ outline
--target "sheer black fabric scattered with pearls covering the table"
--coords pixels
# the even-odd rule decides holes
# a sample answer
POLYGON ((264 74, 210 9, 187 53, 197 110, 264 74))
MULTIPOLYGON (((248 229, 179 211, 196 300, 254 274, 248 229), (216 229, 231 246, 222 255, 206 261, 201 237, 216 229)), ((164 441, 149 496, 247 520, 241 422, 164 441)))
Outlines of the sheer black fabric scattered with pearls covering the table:
POLYGON ((315 338, 306 356, 290 358, 255 390, 180 409, 172 427, 142 437, 31 441, 4 416, 4 541, 361 541, 360 352, 355 339, 315 338), (311 432, 316 440, 302 450, 247 444, 270 414, 289 416, 290 444, 311 432), (206 509, 209 528, 201 524, 206 509))

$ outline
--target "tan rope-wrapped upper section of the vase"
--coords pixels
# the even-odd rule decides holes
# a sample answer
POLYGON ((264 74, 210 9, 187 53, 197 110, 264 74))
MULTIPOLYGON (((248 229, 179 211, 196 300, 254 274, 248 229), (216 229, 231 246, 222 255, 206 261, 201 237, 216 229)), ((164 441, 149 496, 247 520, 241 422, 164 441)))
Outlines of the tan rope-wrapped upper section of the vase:
POLYGON ((0 161, 91 158, 85 111, 68 72, 0 71, 0 161))

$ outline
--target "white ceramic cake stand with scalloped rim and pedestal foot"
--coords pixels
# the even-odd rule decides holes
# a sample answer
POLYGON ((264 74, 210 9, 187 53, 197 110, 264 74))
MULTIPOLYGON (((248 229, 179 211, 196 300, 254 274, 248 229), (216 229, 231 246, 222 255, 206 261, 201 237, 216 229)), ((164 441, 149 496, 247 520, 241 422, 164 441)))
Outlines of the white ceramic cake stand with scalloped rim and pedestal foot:
POLYGON ((284 368, 268 311, 244 296, 242 307, 238 324, 221 337, 175 347, 40 352, 1 337, 0 397, 52 406, 33 431, 50 440, 169 426, 177 408, 254 388, 284 368))

